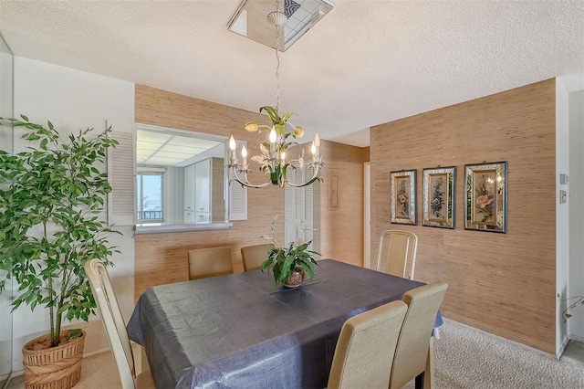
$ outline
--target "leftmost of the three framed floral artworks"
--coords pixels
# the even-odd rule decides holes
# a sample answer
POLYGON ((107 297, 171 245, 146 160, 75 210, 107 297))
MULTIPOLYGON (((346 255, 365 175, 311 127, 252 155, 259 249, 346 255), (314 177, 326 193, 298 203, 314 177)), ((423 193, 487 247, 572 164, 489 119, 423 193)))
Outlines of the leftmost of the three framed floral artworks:
POLYGON ((416 218, 416 171, 390 173, 390 216, 392 224, 413 225, 416 218))

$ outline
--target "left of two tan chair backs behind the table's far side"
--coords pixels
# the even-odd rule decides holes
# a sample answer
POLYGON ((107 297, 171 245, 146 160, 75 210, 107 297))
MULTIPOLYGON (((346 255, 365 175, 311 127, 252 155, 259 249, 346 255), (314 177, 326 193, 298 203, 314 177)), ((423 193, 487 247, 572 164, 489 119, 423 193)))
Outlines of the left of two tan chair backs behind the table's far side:
POLYGON ((233 272, 230 247, 197 248, 189 251, 189 279, 206 279, 233 272))

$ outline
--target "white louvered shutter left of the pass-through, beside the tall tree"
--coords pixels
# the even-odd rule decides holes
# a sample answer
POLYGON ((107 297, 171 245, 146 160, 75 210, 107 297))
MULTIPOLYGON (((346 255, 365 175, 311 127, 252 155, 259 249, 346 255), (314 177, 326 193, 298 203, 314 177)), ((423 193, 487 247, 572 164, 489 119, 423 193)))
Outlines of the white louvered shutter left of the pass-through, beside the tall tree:
POLYGON ((120 142, 108 152, 108 224, 136 224, 136 126, 134 123, 108 121, 112 139, 120 142))

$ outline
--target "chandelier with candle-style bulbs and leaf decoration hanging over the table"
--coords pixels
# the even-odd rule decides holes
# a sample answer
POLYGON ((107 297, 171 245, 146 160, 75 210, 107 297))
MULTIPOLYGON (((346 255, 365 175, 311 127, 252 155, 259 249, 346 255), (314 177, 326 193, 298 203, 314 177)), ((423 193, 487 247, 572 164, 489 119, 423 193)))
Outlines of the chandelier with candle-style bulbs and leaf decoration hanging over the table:
POLYGON ((261 142, 259 144, 259 149, 261 155, 255 155, 251 157, 251 160, 255 163, 259 163, 260 172, 269 174, 269 179, 263 184, 252 184, 248 180, 248 174, 252 173, 249 170, 249 165, 247 163, 247 150, 245 146, 241 149, 241 163, 237 158, 235 147, 236 142, 233 135, 229 139, 229 149, 231 151, 228 167, 233 173, 232 181, 236 181, 239 184, 250 188, 265 188, 270 184, 279 185, 284 187, 285 185, 302 187, 314 183, 317 180, 321 180, 319 173, 320 169, 325 163, 322 162, 322 156, 320 155, 320 139, 318 134, 315 135, 314 141, 312 142, 311 152, 312 158, 305 160, 304 149, 297 156, 297 159, 286 160, 286 153, 289 147, 297 145, 295 142, 297 138, 304 136, 304 130, 302 127, 294 126, 288 120, 294 115, 293 112, 288 112, 284 116, 280 116, 279 104, 280 104, 280 80, 279 80, 279 68, 280 68, 280 29, 286 25, 287 16, 279 11, 279 1, 276 2, 276 11, 271 12, 267 16, 267 20, 276 26, 276 107, 264 106, 259 109, 260 112, 266 111, 272 126, 258 125, 256 122, 251 121, 245 124, 245 130, 250 132, 257 132, 258 134, 262 132, 268 132, 268 142, 261 142), (300 169, 312 169, 312 176, 304 183, 296 184, 288 181, 287 173, 290 171, 296 171, 300 169))

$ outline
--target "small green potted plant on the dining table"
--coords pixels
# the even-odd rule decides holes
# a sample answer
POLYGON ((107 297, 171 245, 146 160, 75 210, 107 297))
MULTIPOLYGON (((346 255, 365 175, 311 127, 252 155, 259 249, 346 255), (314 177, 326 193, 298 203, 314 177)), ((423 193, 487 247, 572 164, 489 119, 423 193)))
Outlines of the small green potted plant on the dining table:
MULTIPOLYGON (((276 219, 277 216, 272 220, 272 231, 276 229, 276 219)), ((314 256, 320 253, 308 250, 312 241, 290 242, 287 247, 281 247, 274 234, 264 237, 272 240, 275 247, 268 251, 267 259, 262 263, 262 271, 271 268, 276 285, 295 288, 302 284, 307 274, 311 279, 314 278, 314 266, 318 266, 314 256)))

